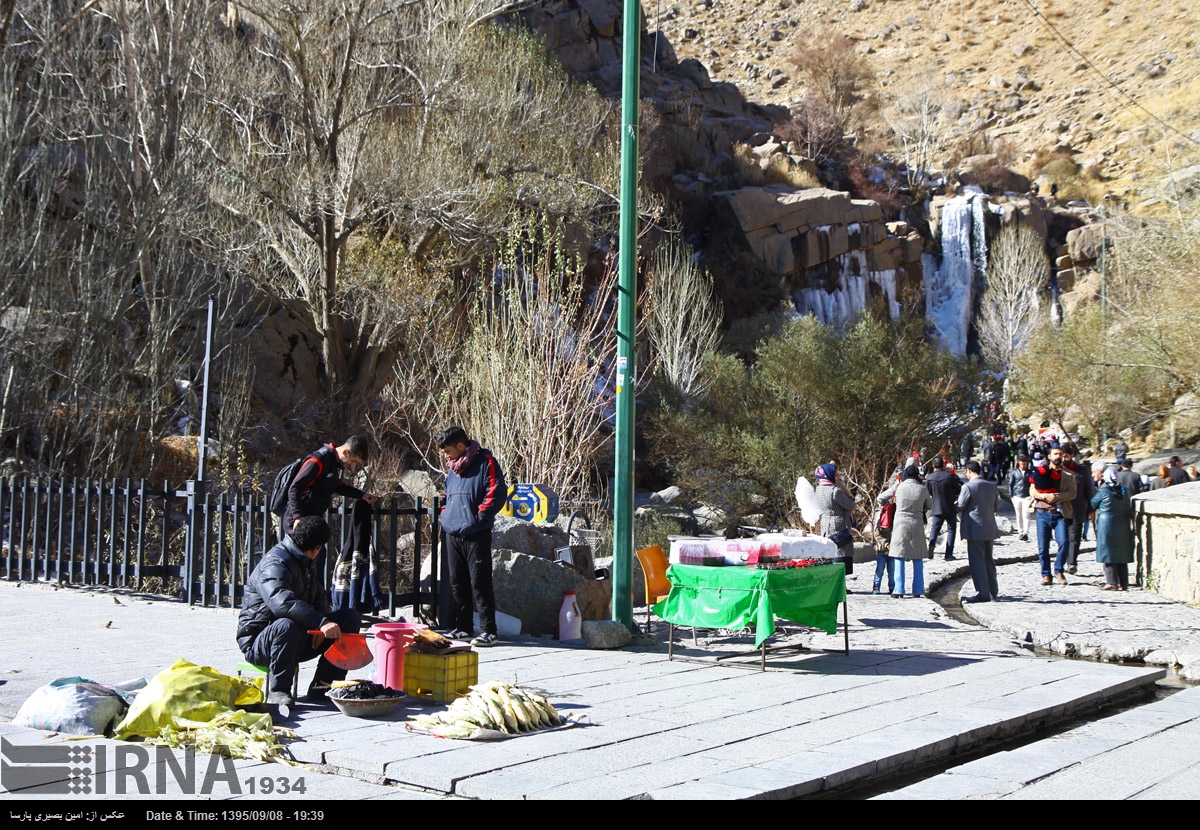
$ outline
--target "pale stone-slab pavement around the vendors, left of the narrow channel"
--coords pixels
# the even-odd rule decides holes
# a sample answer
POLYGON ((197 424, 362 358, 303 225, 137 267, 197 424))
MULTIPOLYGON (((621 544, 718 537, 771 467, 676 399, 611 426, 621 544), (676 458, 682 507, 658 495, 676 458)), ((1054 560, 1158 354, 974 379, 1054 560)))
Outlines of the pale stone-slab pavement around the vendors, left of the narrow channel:
MULTIPOLYGON (((934 564, 947 573, 955 566, 934 564)), ((5 718, 58 676, 120 681, 176 657, 232 670, 239 658, 230 609, 14 583, 0 583, 0 603, 5 718)), ((290 748, 311 768, 305 798, 794 798, 953 763, 1136 694, 1163 675, 1036 657, 1010 634, 956 621, 929 600, 852 594, 850 611, 850 655, 773 655, 766 673, 668 662, 664 644, 647 638, 619 651, 532 638, 485 650, 481 679, 541 688, 581 721, 498 744, 410 733, 403 708, 379 721, 301 708, 290 724, 300 740, 290 748)), ((742 638, 724 639, 709 642, 731 646, 742 638)), ((840 636, 796 630, 781 639, 841 645, 840 636)), ((689 632, 679 632, 679 643, 684 654, 696 652, 689 632)), ((48 740, 0 728, 11 742, 48 740)), ((242 792, 217 787, 210 798, 294 798, 251 795, 245 782, 296 770, 238 766, 242 792)), ((107 796, 124 798, 112 795, 114 787, 107 796)))

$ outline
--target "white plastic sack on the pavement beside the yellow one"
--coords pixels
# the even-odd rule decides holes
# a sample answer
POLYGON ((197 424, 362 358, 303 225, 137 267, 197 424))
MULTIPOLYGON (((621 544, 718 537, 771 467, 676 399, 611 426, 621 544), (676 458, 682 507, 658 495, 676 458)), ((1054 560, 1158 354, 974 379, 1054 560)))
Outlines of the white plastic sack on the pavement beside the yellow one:
POLYGON ((121 688, 88 678, 59 678, 30 694, 13 723, 67 735, 107 735, 132 699, 121 688))

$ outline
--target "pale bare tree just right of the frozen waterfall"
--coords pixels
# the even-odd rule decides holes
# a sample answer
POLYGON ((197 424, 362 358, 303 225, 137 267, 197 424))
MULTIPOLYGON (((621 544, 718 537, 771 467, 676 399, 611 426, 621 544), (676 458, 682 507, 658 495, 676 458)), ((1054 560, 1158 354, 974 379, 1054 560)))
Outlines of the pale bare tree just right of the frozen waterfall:
POLYGON ((1038 325, 1038 297, 1050 278, 1050 263, 1042 236, 1019 221, 1001 228, 989 254, 976 325, 984 357, 1007 372, 1038 325))

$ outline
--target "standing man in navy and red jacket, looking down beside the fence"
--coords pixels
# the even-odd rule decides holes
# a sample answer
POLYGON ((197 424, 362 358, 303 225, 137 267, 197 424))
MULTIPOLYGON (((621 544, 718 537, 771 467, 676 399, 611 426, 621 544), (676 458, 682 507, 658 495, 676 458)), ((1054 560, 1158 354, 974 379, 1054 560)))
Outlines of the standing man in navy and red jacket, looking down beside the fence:
POLYGON ((472 632, 472 608, 479 612, 480 633, 473 645, 496 643, 496 595, 492 591, 492 525, 509 497, 504 473, 491 453, 458 426, 437 437, 446 459, 446 498, 442 506, 446 565, 450 570, 449 637, 472 632))

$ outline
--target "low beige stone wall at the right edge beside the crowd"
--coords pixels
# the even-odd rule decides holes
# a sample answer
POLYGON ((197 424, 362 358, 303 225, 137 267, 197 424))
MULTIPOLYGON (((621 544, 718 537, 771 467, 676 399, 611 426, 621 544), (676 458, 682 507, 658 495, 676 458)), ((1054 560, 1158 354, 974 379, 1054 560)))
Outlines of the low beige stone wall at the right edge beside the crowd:
POLYGON ((1138 573, 1169 600, 1200 605, 1200 518, 1140 513, 1138 573))

